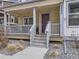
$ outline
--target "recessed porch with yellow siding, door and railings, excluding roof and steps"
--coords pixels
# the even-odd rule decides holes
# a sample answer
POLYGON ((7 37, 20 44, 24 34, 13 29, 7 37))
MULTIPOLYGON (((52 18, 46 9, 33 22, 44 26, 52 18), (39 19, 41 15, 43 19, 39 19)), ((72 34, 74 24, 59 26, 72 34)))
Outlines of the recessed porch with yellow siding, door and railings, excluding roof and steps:
POLYGON ((60 4, 8 11, 6 34, 29 35, 35 25, 36 34, 45 34, 49 21, 52 35, 60 34, 60 4))

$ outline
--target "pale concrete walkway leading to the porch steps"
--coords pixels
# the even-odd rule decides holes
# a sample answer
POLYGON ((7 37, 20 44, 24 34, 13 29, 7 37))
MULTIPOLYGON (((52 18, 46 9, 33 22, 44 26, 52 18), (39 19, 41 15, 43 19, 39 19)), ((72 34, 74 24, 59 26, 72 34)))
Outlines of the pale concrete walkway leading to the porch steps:
POLYGON ((47 51, 46 48, 28 47, 13 56, 0 54, 0 59, 43 59, 47 51))

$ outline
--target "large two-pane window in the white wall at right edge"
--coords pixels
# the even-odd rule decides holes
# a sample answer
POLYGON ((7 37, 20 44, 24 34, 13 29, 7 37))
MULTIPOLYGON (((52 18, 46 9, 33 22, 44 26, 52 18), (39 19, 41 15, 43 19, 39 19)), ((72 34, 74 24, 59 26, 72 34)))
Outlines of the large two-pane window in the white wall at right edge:
POLYGON ((69 26, 79 25, 79 2, 68 3, 68 23, 69 26))

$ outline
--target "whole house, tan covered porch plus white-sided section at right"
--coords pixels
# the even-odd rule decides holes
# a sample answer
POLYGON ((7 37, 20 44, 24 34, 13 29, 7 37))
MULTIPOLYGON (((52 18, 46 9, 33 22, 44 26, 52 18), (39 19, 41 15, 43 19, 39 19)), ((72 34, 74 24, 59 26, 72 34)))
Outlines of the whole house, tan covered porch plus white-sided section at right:
POLYGON ((4 8, 8 38, 30 39, 30 44, 34 39, 46 39, 48 47, 49 39, 63 41, 65 36, 79 35, 78 0, 20 1, 4 8))

